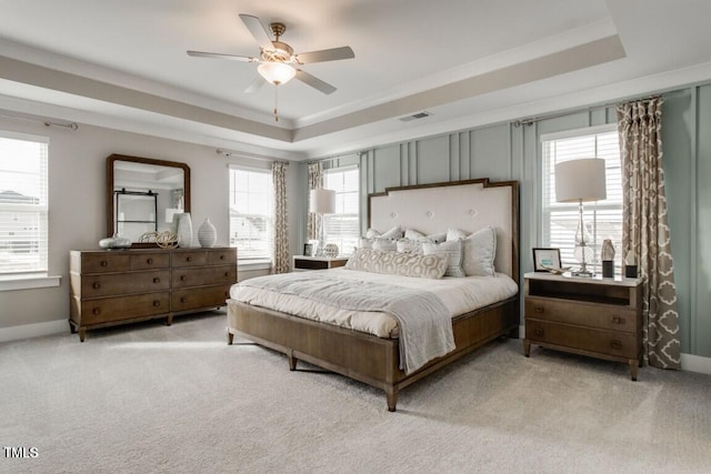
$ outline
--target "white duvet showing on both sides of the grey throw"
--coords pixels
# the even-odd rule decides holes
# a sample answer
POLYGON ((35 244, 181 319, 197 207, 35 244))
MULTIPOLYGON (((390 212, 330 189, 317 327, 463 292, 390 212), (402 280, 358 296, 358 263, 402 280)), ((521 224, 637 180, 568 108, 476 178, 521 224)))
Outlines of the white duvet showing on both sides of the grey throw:
MULTIPOLYGON (((444 276, 441 280, 415 279, 410 276, 359 272, 346 269, 317 270, 328 272, 329 278, 398 285, 437 294, 450 316, 454 317, 498 301, 515 295, 519 286, 505 274, 495 276, 444 276)), ((387 313, 369 311, 340 310, 328 304, 317 303, 290 294, 280 294, 269 290, 232 285, 230 297, 242 303, 268 307, 314 321, 336 324, 341 327, 374 334, 379 337, 397 337, 398 323, 387 313)))

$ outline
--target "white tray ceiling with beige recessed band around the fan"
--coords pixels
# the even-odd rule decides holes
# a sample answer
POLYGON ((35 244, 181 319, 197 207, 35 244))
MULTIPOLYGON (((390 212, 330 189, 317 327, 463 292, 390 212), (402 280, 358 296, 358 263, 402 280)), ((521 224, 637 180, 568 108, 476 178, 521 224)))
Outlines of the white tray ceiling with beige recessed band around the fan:
POLYGON ((307 159, 711 79, 708 0, 0 1, 0 109, 307 159), (238 13, 356 58, 243 90, 238 13), (427 110, 431 117, 398 119, 427 110))

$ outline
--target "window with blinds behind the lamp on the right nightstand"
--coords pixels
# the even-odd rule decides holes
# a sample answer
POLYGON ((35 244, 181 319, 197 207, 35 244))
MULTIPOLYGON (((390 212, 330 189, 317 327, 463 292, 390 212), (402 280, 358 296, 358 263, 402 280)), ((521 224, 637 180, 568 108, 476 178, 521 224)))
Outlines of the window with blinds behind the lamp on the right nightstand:
MULTIPOLYGON (((622 174, 620 147, 614 125, 541 137, 542 141, 542 245, 560 249, 562 266, 578 266, 574 255, 575 231, 580 221, 578 203, 555 202, 555 163, 597 157, 605 161, 608 199, 583 203, 587 243, 592 260, 600 265, 604 239, 614 245, 615 272, 622 261, 622 174)), ((601 272, 600 266, 594 269, 601 272)))

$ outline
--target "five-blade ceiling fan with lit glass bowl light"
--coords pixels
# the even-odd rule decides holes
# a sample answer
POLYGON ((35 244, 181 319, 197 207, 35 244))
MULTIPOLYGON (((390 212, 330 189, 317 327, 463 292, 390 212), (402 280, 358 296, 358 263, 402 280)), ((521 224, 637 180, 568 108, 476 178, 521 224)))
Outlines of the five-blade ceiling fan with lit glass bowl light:
POLYGON ((274 85, 281 85, 296 78, 301 82, 323 92, 324 94, 330 94, 336 92, 336 88, 333 85, 320 80, 312 74, 309 74, 308 72, 300 69, 300 65, 313 62, 336 61, 339 59, 356 58, 356 54, 350 47, 294 53, 293 48, 280 41, 281 36, 284 33, 284 31, 287 31, 287 27, 283 23, 270 23, 269 28, 274 36, 274 39, 272 40, 269 38, 269 33, 262 26, 262 22, 259 20, 259 18, 251 14, 240 13, 240 19, 250 31, 250 33, 252 33, 254 40, 257 40, 260 50, 259 57, 222 54, 204 51, 188 51, 188 54, 198 58, 217 58, 228 59, 232 61, 260 63, 257 68, 259 75, 257 75, 257 78, 248 85, 244 92, 254 92, 266 82, 270 82, 274 85))

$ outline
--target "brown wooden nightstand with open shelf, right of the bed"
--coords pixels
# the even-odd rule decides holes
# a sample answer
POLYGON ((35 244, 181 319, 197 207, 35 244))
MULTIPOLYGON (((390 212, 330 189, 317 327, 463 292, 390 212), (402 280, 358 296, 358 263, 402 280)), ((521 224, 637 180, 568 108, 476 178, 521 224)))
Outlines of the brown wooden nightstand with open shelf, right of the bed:
POLYGON ((627 362, 637 380, 642 363, 642 279, 562 276, 534 272, 525 282, 525 339, 531 344, 627 362))

